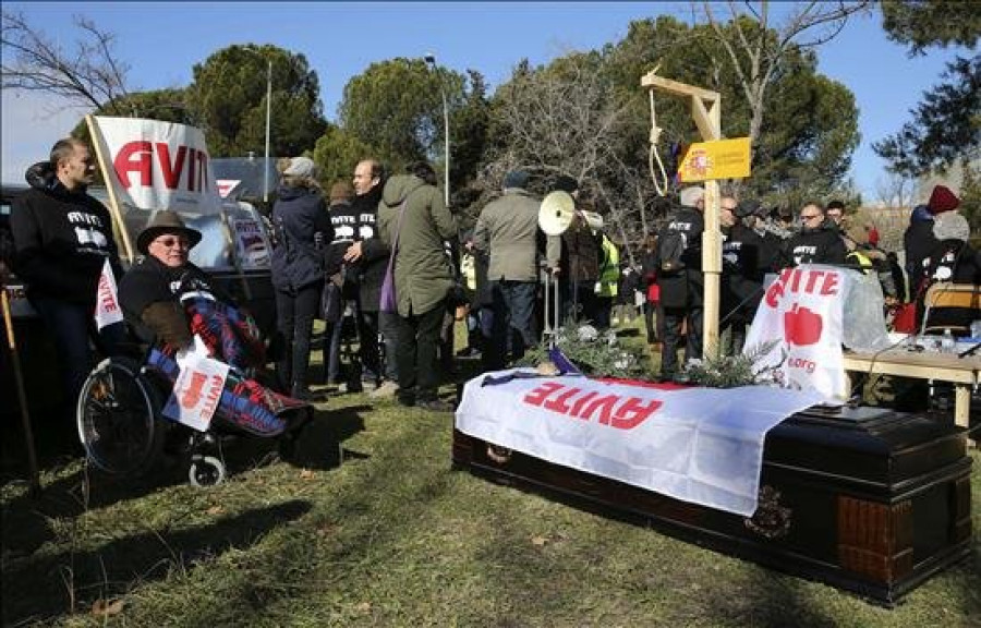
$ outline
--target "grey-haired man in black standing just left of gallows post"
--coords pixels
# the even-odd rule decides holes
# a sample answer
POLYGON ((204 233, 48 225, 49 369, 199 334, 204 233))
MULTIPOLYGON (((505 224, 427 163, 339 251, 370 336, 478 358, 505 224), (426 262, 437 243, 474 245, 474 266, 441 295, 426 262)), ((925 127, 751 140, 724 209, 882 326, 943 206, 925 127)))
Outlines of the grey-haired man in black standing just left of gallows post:
POLYGON ((679 207, 658 235, 657 285, 661 287, 661 304, 664 309, 664 345, 661 351, 661 377, 670 379, 678 371, 678 345, 681 327, 687 322, 688 341, 685 360, 702 357, 703 292, 702 274, 702 216, 705 191, 686 188, 681 191, 679 207), (677 245, 675 244, 677 242, 677 245), (669 249, 677 247, 677 255, 669 249))

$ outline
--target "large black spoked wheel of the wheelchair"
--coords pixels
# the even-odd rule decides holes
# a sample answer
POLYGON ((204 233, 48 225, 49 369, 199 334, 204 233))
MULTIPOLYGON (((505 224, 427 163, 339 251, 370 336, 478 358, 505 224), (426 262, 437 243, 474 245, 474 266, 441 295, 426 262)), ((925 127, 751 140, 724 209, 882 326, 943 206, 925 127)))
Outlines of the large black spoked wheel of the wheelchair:
POLYGON ((140 475, 154 463, 166 425, 157 419, 159 398, 125 358, 104 360, 78 396, 78 437, 88 460, 112 475, 140 475))

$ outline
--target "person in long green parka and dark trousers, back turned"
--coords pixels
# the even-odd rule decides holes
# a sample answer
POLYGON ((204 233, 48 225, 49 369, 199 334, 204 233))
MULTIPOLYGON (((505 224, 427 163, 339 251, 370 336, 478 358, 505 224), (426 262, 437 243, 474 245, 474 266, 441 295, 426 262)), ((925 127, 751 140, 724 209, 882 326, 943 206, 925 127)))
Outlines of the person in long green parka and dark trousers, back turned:
POLYGON ((393 251, 395 299, 386 299, 383 287, 380 306, 399 315, 398 400, 403 406, 451 411, 449 403, 436 398, 436 351, 453 287, 444 241, 457 239, 457 222, 436 188, 432 166, 417 161, 405 171, 385 183, 378 204, 382 239, 393 251))

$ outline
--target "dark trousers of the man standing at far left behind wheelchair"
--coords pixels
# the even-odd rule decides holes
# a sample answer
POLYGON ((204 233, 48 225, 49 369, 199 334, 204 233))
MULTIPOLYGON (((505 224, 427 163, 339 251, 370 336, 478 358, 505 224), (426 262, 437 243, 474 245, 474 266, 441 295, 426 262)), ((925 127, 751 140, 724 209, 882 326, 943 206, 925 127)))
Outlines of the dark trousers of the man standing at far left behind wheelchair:
POLYGON ((89 338, 95 339, 100 353, 112 355, 125 339, 125 326, 118 323, 96 333, 93 310, 89 307, 56 299, 36 299, 32 304, 40 312, 45 327, 55 339, 61 390, 64 395, 62 414, 65 421, 73 422, 78 392, 94 365, 89 338))

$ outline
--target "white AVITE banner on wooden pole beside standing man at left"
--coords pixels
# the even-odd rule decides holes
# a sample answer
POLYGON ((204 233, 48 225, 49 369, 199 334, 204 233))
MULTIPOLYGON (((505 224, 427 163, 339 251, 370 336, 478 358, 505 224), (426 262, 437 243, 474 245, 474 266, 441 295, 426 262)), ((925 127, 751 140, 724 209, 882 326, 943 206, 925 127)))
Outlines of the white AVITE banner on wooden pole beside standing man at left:
POLYGON ((141 118, 94 117, 99 153, 111 161, 121 205, 217 214, 221 197, 204 133, 194 126, 141 118))

